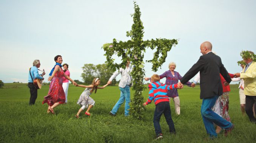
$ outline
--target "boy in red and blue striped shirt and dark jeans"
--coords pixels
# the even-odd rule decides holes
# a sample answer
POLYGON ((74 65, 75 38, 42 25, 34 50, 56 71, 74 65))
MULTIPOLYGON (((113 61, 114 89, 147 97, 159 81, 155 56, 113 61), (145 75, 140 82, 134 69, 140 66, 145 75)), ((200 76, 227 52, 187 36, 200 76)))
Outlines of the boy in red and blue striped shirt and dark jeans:
POLYGON ((170 108, 170 103, 169 103, 169 98, 167 96, 167 91, 178 88, 181 89, 183 88, 183 85, 179 82, 178 84, 173 84, 173 85, 166 85, 160 83, 160 77, 157 74, 152 75, 151 77, 151 84, 148 86, 149 88, 149 97, 148 101, 143 103, 143 106, 146 106, 151 103, 151 101, 154 99, 154 102, 156 104, 156 109, 154 112, 154 127, 155 127, 155 132, 156 132, 156 139, 161 139, 163 138, 163 134, 161 131, 160 127, 160 117, 162 114, 164 114, 166 122, 169 126, 169 131, 171 134, 175 134, 175 128, 174 128, 174 123, 173 119, 171 118, 171 108, 170 108))

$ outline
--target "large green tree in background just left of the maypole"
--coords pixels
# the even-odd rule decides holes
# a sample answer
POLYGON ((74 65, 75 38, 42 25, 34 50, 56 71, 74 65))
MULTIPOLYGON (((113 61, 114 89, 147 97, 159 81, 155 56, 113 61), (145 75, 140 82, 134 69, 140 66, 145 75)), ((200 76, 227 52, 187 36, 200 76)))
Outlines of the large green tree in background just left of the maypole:
MULTIPOLYGON (((98 65, 85 64, 82 68, 81 77, 85 84, 91 84, 94 78, 100 78, 100 85, 105 85, 114 72, 105 63, 98 65)), ((112 84, 116 84, 116 80, 113 80, 112 84)))

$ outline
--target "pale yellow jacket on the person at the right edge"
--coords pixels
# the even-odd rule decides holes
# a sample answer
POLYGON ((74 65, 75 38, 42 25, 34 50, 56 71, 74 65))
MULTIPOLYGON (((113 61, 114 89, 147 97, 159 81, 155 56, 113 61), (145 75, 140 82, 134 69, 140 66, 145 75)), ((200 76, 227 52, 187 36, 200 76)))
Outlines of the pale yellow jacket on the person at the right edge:
POLYGON ((256 62, 252 62, 245 72, 244 69, 240 74, 240 77, 244 79, 244 94, 256 96, 256 62))

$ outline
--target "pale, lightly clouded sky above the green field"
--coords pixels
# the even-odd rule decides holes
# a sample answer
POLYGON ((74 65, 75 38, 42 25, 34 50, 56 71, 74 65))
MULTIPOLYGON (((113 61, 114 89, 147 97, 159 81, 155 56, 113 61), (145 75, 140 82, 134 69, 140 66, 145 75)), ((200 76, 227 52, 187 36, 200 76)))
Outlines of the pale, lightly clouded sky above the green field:
MULTIPOLYGON (((212 43, 230 73, 242 70, 237 65, 242 50, 256 52, 255 0, 136 2, 144 26, 143 40, 179 39, 157 72, 151 71, 151 63, 145 63, 147 77, 167 71, 170 62, 176 63, 175 71, 183 76, 202 55, 199 48, 204 41, 212 43)), ((126 31, 131 30, 133 13, 132 0, 1 0, 0 80, 28 83, 35 59, 48 77, 54 57, 61 55, 69 65, 70 77, 82 81, 84 64, 106 61, 103 44, 113 38, 130 39, 126 31)), ((146 50, 144 61, 152 59, 153 52, 146 50)))

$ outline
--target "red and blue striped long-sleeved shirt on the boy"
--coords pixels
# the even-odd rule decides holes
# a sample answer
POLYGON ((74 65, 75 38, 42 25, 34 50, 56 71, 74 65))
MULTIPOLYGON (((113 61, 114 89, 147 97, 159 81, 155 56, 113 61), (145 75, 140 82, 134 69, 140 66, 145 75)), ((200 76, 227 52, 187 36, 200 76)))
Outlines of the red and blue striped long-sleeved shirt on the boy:
POLYGON ((174 88, 177 88, 178 84, 173 84, 173 85, 167 85, 167 84, 162 84, 159 81, 155 81, 151 83, 148 88, 149 88, 149 97, 148 101, 146 104, 150 104, 152 100, 154 99, 155 104, 158 104, 160 102, 169 102, 169 98, 167 96, 167 91, 172 90, 174 88))

